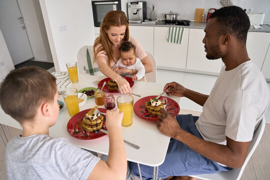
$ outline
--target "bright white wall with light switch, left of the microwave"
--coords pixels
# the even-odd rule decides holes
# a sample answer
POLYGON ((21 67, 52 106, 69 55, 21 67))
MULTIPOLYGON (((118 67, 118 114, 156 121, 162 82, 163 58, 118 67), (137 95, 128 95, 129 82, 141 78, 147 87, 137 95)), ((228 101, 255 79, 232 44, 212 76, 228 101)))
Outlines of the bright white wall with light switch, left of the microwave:
POLYGON ((94 42, 90 0, 39 0, 55 70, 66 71, 65 63, 77 60, 83 45, 94 42), (64 27, 60 31, 60 27, 64 27))

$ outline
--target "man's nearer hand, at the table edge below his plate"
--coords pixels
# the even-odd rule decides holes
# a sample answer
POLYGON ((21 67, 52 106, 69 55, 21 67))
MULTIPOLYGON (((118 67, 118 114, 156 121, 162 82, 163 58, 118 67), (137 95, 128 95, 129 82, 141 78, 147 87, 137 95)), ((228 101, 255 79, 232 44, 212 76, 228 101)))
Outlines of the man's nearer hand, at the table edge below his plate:
POLYGON ((179 133, 182 128, 178 124, 175 117, 170 115, 165 109, 160 109, 163 115, 157 115, 158 120, 156 126, 160 132, 163 134, 175 138, 176 134, 179 133))

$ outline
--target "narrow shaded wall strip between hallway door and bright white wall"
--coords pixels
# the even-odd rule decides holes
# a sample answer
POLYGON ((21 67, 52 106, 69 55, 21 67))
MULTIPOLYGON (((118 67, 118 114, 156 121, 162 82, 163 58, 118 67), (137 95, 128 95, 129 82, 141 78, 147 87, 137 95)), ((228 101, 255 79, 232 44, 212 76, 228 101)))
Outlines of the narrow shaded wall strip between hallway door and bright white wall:
POLYGON ((38 0, 17 0, 33 56, 36 60, 52 62, 48 38, 38 0))

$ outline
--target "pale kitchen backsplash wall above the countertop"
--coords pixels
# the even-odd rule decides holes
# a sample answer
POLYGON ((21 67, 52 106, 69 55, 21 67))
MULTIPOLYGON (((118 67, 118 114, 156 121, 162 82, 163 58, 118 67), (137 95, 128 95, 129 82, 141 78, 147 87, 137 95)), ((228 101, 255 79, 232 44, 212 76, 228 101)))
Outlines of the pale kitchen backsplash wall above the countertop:
MULTIPOLYGON (((127 2, 136 0, 121 0, 122 10, 127 12, 127 2)), ((145 0, 147 3, 147 18, 150 17, 151 10, 148 6, 152 4, 156 7, 156 17, 160 17, 162 13, 170 10, 178 12, 180 19, 194 19, 195 9, 204 8, 204 14, 207 14, 208 8, 220 8, 220 0, 145 0)), ((233 5, 242 8, 251 8, 252 13, 264 13, 264 22, 270 22, 270 0, 231 0, 233 5)))

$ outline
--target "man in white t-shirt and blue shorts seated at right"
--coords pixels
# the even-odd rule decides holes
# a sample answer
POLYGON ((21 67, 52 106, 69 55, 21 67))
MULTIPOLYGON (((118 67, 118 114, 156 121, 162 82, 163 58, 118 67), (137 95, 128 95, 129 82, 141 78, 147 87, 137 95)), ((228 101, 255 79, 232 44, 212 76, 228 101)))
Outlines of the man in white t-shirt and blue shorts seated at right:
MULTIPOLYGON (((204 95, 167 83, 169 95, 187 97, 203 106, 199 117, 177 115, 161 109, 157 128, 172 137, 158 177, 195 179, 187 175, 239 168, 244 163, 253 132, 269 104, 269 88, 259 68, 249 59, 246 13, 237 6, 213 12, 202 40, 208 59, 221 57, 224 66, 210 92, 204 95), (168 87, 171 87, 168 89, 168 87)), ((137 175, 135 164, 130 164, 137 175)), ((143 179, 150 179, 149 166, 140 165, 143 179)))

